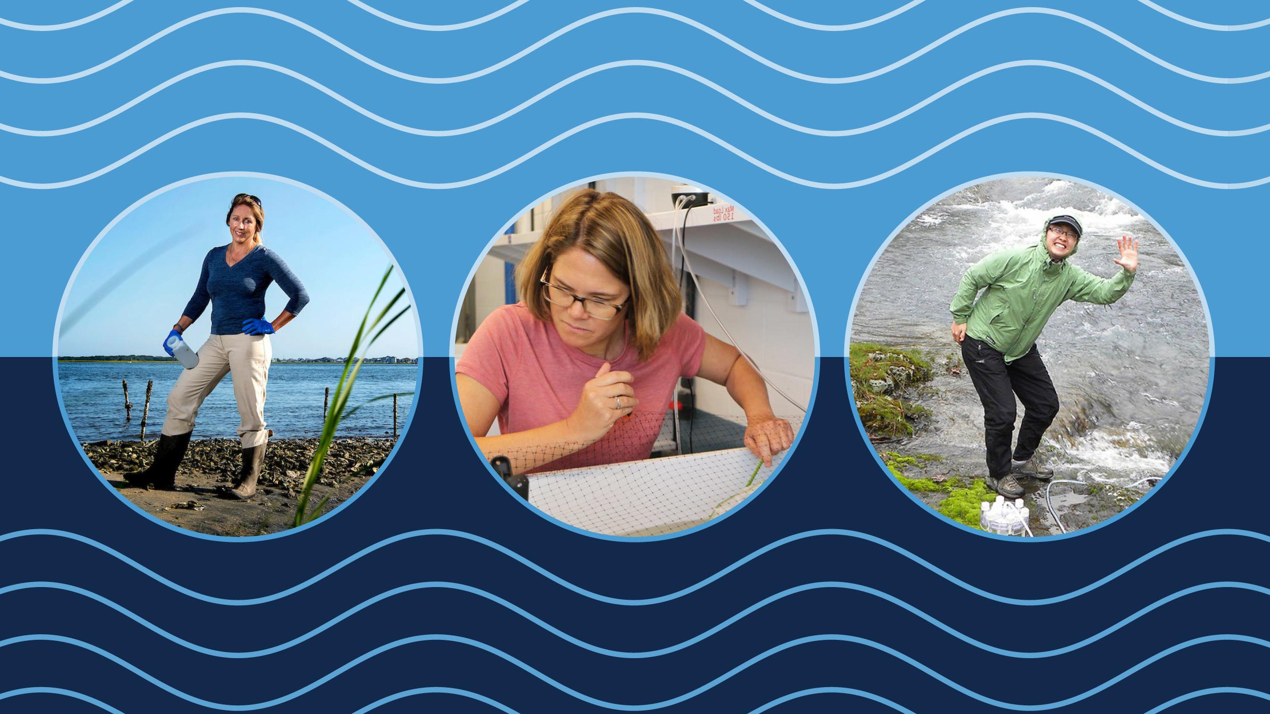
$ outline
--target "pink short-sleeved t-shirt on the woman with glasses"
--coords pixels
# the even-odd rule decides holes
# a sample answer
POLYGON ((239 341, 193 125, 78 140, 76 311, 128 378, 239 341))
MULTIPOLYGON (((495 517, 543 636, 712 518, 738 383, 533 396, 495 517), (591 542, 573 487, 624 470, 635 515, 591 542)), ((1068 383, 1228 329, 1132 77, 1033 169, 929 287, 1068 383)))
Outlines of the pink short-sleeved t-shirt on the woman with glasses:
MULTIPOLYGON (((535 471, 648 459, 676 381, 697 374, 705 346, 705 330, 683 314, 645 362, 639 361, 638 351, 627 340, 626 349, 610 365, 613 371, 631 374, 639 407, 630 418, 618 419, 599 441, 535 471)), ((566 346, 555 325, 538 320, 519 302, 504 305, 485 318, 455 372, 476 380, 498 399, 502 404, 498 428, 513 433, 572 414, 583 385, 596 377, 603 363, 605 360, 566 346)), ((556 448, 563 452, 568 447, 556 448)))

